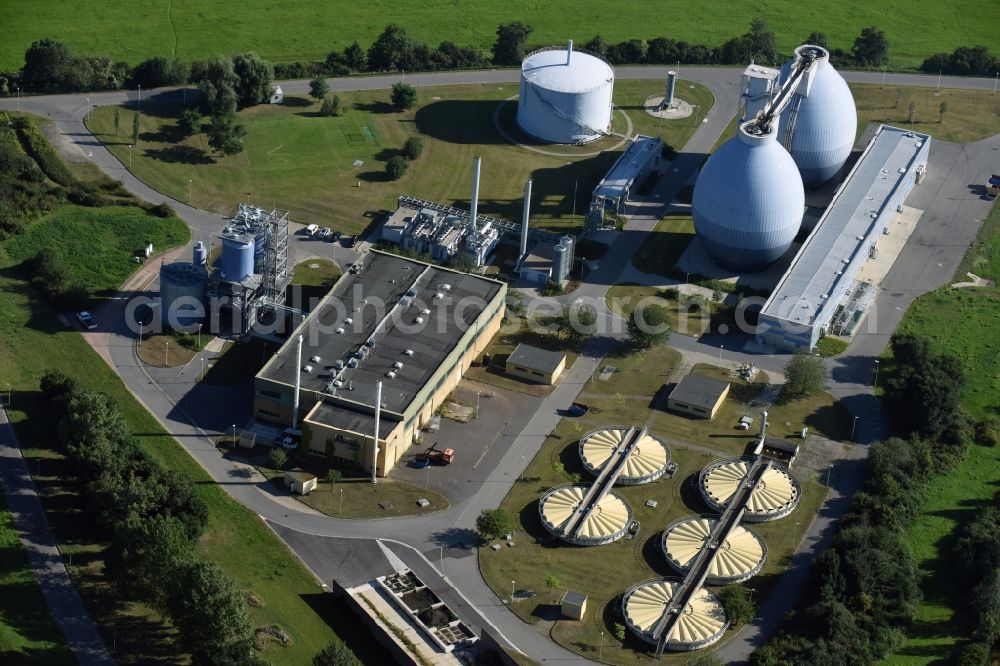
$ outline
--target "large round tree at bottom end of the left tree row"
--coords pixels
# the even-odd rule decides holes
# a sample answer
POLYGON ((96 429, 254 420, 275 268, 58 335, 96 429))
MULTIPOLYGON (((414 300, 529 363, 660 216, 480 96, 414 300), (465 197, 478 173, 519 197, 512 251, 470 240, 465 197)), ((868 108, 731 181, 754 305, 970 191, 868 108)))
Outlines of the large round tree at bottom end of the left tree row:
POLYGON ((169 615, 192 663, 217 663, 219 655, 250 654, 253 625, 243 594, 212 562, 194 561, 175 578, 169 615))

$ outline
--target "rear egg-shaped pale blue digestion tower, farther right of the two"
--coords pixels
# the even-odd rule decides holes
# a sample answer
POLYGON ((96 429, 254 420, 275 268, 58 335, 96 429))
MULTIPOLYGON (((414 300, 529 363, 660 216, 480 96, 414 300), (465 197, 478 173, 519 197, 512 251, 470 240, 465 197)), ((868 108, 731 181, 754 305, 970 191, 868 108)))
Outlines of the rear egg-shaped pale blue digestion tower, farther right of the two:
MULTIPOLYGON (((815 189, 837 175, 851 154, 858 129, 854 95, 844 77, 830 64, 830 53, 821 46, 805 44, 795 55, 815 58, 809 76, 798 85, 781 114, 778 134, 791 153, 807 189, 815 189)), ((788 79, 792 62, 781 68, 788 79)))

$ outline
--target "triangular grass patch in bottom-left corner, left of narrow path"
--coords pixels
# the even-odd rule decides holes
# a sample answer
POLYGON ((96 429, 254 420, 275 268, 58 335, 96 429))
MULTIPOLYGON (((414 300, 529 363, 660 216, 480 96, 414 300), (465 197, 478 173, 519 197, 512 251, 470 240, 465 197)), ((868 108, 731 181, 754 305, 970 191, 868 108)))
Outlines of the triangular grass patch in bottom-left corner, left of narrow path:
POLYGON ((49 607, 14 521, 0 494, 0 661, 9 666, 75 664, 49 607))

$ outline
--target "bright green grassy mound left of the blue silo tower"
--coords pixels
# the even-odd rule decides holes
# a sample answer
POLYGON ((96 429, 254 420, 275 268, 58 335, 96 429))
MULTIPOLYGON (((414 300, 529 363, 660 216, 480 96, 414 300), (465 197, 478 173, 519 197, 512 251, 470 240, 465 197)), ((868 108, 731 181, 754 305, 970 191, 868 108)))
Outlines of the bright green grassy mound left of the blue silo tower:
POLYGON ((19 264, 51 249, 70 281, 90 294, 113 295, 135 272, 133 257, 152 243, 155 252, 183 245, 191 233, 180 218, 161 219, 132 206, 63 206, 3 244, 6 261, 19 264))

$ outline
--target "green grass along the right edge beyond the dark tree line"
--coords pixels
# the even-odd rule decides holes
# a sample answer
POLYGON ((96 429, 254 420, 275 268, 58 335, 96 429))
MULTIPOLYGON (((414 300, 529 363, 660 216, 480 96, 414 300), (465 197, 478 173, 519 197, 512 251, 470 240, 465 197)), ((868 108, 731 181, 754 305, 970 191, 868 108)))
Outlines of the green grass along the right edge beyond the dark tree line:
MULTIPOLYGON (((983 277, 1000 277, 998 247, 1000 207, 994 206, 956 277, 970 269, 983 277)), ((946 288, 917 299, 899 330, 926 336, 935 349, 962 360, 969 380, 962 405, 973 416, 981 417, 1000 409, 1000 343, 995 335, 983 334, 998 327, 1000 290, 946 288)), ((967 592, 953 584, 951 549, 958 528, 996 495, 998 478, 1000 448, 972 446, 955 469, 931 482, 927 504, 908 532, 923 575, 924 600, 907 641, 885 663, 944 663, 951 658, 955 644, 968 637, 966 618, 960 612, 968 602, 967 592)))

